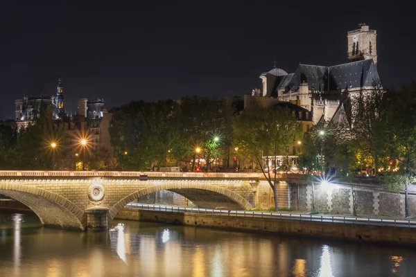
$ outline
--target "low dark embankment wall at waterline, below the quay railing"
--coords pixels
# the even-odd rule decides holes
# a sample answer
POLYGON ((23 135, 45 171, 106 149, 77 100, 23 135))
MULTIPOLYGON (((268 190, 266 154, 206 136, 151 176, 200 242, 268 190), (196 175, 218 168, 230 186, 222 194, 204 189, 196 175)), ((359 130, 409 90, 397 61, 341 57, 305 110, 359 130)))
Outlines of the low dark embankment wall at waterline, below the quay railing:
POLYGON ((272 232, 315 238, 335 238, 361 242, 416 245, 416 229, 393 226, 372 226, 331 222, 279 220, 198 213, 171 213, 123 208, 117 219, 203 226, 216 229, 272 232))

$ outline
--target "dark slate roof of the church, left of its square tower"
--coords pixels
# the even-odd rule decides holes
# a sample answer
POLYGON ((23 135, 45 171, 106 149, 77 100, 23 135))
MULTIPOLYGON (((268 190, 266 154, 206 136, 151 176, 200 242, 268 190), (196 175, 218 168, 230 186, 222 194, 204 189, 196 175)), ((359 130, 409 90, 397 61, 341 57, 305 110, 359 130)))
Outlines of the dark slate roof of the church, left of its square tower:
POLYGON ((373 60, 361 60, 335 66, 300 64, 295 73, 285 75, 278 89, 297 91, 306 82, 309 90, 337 91, 341 89, 375 87, 380 83, 373 60))

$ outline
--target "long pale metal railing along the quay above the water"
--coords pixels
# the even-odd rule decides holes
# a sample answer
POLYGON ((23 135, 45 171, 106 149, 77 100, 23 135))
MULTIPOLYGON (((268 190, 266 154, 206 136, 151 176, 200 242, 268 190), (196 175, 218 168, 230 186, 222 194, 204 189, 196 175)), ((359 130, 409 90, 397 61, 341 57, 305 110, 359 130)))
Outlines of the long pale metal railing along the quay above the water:
POLYGON ((277 212, 260 212, 260 211, 232 211, 212 208, 185 208, 174 206, 160 206, 152 204, 127 204, 129 208, 139 208, 152 211, 166 211, 173 213, 202 213, 209 215, 223 215, 232 217, 254 217, 269 218, 277 220, 302 220, 312 222, 331 222, 343 224, 363 224, 374 226, 395 226, 404 228, 416 228, 414 220, 393 220, 388 218, 374 217, 343 217, 336 215, 305 215, 300 213, 277 213, 277 212))

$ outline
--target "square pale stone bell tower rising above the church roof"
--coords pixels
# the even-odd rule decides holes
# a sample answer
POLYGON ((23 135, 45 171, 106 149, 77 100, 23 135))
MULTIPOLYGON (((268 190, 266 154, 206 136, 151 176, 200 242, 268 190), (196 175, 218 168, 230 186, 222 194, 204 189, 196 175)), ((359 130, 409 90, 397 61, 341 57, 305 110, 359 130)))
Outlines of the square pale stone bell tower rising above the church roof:
POLYGON ((364 23, 358 24, 357 30, 348 32, 348 60, 355 62, 358 60, 374 61, 377 65, 377 42, 376 30, 370 30, 364 23))

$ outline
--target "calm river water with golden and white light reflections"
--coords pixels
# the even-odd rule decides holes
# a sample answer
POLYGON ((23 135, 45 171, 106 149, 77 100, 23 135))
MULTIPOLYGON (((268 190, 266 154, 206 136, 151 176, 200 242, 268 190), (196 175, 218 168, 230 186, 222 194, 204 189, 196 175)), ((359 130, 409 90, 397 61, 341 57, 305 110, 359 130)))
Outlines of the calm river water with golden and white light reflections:
POLYGON ((416 276, 416 251, 121 220, 81 233, 0 212, 0 276, 416 276))

